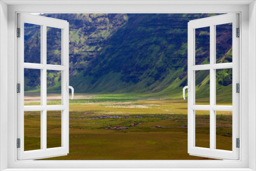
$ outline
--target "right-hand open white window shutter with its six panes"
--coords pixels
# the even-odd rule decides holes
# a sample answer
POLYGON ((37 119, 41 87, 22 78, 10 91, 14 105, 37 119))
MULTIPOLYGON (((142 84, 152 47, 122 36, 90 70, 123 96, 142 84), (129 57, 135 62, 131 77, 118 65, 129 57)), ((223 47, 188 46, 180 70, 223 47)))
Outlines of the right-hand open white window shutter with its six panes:
MULTIPOLYGON (((239 83, 239 14, 223 14, 207 18, 191 20, 188 23, 188 153, 193 156, 201 156, 216 159, 239 159, 239 93, 236 91, 237 83, 239 83), (232 61, 225 63, 216 61, 216 28, 219 25, 231 25, 232 34, 232 61), (200 47, 196 47, 196 29, 209 28, 209 62, 203 65, 196 63, 196 51, 200 47), (232 69, 232 105, 217 105, 216 104, 216 72, 221 69, 232 69), (207 70, 209 73, 209 105, 196 104, 196 73, 198 71, 207 70), (200 147, 196 138, 196 129, 198 122, 196 121, 196 112, 208 111, 209 117, 205 118, 205 122, 209 123, 209 134, 205 135, 209 138, 207 147, 200 147), (231 150, 218 149, 216 146, 216 127, 217 117, 216 112, 230 111, 232 113, 232 146, 231 150), (207 120, 208 119, 208 120, 207 120)), ((206 32, 200 32, 207 34, 206 32)), ((224 35, 225 36, 225 35, 224 35)), ((206 43, 206 42, 205 42, 206 43)), ((199 45, 200 46, 200 45, 199 45)), ((218 47, 220 48, 220 47, 218 47)), ((225 70, 226 71, 226 70, 225 70)), ((200 123, 199 123, 200 124, 200 123)), ((230 136, 230 134, 228 135, 230 136)))

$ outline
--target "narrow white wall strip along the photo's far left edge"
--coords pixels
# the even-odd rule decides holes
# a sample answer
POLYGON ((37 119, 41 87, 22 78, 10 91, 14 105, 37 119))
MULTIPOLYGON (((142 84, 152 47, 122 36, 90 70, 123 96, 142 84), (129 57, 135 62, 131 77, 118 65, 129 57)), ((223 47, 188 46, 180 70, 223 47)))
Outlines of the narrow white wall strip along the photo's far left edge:
MULTIPOLYGON (((8 6, 0 2, 0 129, 7 130, 8 6)), ((0 133, 0 170, 7 168, 7 132, 0 133)))

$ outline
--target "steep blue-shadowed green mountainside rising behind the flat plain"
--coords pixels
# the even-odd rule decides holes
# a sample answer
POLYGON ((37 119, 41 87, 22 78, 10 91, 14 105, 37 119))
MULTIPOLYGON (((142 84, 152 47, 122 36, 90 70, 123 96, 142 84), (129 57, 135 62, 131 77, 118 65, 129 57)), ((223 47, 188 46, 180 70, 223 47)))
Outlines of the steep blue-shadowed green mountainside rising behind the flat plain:
MULTIPOLYGON (((175 96, 187 84, 187 23, 215 14, 44 15, 70 22, 70 84, 77 93, 175 96)), ((219 47, 227 42, 225 32, 228 26, 218 32, 219 47)), ((200 64, 209 58, 209 34, 198 34, 200 64)), ((218 61, 230 61, 231 46, 217 53, 218 61)), ((220 74, 218 83, 228 86, 220 74)))

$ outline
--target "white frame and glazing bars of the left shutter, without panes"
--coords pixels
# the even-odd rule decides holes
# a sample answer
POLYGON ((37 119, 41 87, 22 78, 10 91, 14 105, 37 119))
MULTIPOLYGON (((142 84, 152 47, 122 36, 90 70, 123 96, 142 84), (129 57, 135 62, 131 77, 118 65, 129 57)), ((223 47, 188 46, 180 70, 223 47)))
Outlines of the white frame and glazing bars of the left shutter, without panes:
POLYGON ((17 138, 20 138, 20 148, 17 148, 17 158, 18 160, 26 160, 67 155, 69 153, 69 23, 66 20, 56 18, 18 13, 17 26, 20 28, 20 37, 17 38, 17 82, 20 83, 20 93, 17 94, 17 138), (24 62, 25 23, 34 24, 40 27, 40 63, 24 62), (58 28, 61 30, 60 65, 50 65, 47 63, 47 27, 58 28), (24 69, 40 70, 40 105, 24 105, 24 69), (47 71, 53 70, 61 72, 60 105, 47 105, 47 71), (24 151, 25 111, 40 111, 40 149, 24 151), (61 112, 60 147, 47 148, 47 111, 61 112))

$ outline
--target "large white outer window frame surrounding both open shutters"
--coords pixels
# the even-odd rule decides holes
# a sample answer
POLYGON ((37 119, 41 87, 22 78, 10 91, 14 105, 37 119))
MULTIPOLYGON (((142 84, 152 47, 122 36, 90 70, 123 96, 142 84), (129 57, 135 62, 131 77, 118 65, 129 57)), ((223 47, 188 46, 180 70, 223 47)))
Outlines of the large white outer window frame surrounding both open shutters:
POLYGON ((255 170, 255 1, 2 1, 0 2, 0 169, 19 170, 255 170), (7 5, 8 12, 7 12, 7 5), (62 4, 61 4, 62 3, 62 4), (69 5, 63 5, 63 4, 69 5), (11 5, 12 4, 12 5, 11 5), (16 4, 16 5, 15 5, 16 4), (33 4, 33 5, 31 5, 33 4), (40 4, 40 5, 38 5, 40 4), (43 4, 43 5, 42 5, 43 4), (53 5, 55 4, 55 5, 53 5), (73 4, 73 5, 70 5, 73 4), (76 4, 76 5, 75 5, 76 4), (16 14, 33 13, 240 13, 240 160, 17 161, 16 14), (8 16, 8 31, 7 18, 8 16), (8 37, 7 37, 8 33, 8 37), (250 35, 250 36, 249 36, 250 35), (4 38, 4 39, 3 39, 4 38), (8 40, 8 45, 6 41, 8 40), (7 48, 8 49, 4 49, 7 48), (8 55, 8 58, 7 58, 8 55), (250 62, 249 62, 250 61, 250 62), (4 64, 3 64, 4 63, 4 64), (3 66, 8 63, 7 67, 3 66), (1 68, 2 67, 2 68, 1 68), (250 78, 250 79, 249 79, 250 78), (8 83, 7 83, 8 82, 8 83), (250 84, 249 84, 250 83, 250 84), (6 102, 8 86, 8 101, 6 102), (249 93, 250 89, 250 93, 249 93), (6 95, 5 97, 3 95, 6 95), (250 99, 250 100, 249 100, 250 99), (6 105, 8 109, 6 108, 6 105), (7 111, 8 110, 8 111, 7 111), (7 111, 7 112, 6 112, 7 111), (8 120, 8 123, 6 123, 8 120), (7 128, 7 131, 6 131, 7 128), (15 134, 13 134, 15 133, 15 134), (250 136, 248 136, 250 134, 250 136), (8 144, 8 145, 7 145, 8 144), (8 147, 7 147, 8 146, 8 147), (7 147, 7 148, 6 148, 7 147), (8 156, 8 157, 6 157, 8 156), (30 168, 30 169, 29 169, 30 168), (62 169, 61 169, 62 168, 62 169), (70 169, 68 169, 70 168, 70 169), (72 169, 73 168, 73 169, 72 169), (84 168, 84 169, 82 169, 84 168), (91 169, 90 169, 91 168, 91 169), (98 168, 98 169, 92 169, 98 168), (125 169, 126 168, 126 169, 125 169), (154 168, 154 169, 153 169, 154 168), (22 169, 20 169, 22 170, 22 169))

